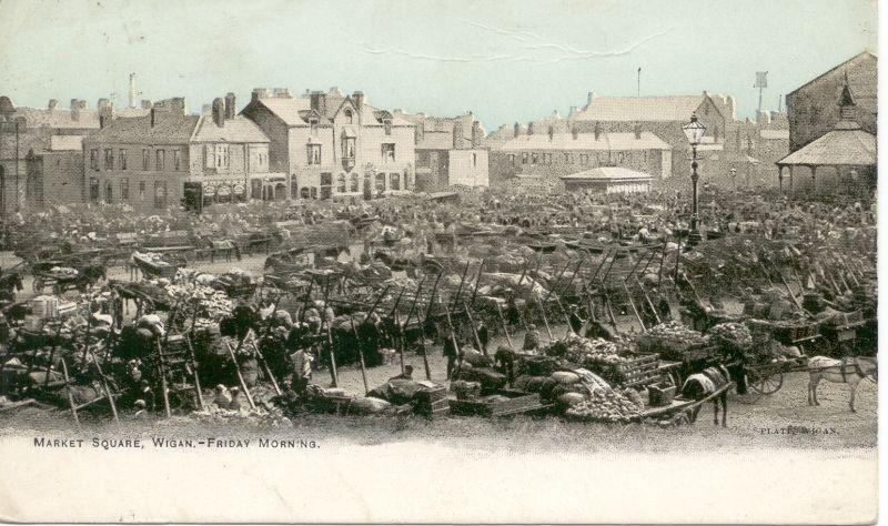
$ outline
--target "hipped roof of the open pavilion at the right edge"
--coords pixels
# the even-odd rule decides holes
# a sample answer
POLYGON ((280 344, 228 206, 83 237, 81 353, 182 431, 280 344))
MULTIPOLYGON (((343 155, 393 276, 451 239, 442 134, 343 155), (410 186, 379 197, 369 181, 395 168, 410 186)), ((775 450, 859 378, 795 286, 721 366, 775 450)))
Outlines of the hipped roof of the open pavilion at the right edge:
POLYGON ((778 165, 876 165, 876 135, 860 129, 833 130, 777 161, 778 165))

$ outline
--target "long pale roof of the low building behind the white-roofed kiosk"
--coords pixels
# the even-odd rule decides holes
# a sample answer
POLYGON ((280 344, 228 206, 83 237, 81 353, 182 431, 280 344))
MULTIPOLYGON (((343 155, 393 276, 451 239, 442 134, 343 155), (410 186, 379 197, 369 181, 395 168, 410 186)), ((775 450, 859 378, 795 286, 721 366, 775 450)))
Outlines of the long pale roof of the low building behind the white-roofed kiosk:
POLYGON ((547 133, 518 135, 508 140, 501 150, 672 150, 672 146, 650 132, 642 132, 640 139, 635 133, 602 133, 595 140, 594 133, 555 133, 549 140, 547 133))

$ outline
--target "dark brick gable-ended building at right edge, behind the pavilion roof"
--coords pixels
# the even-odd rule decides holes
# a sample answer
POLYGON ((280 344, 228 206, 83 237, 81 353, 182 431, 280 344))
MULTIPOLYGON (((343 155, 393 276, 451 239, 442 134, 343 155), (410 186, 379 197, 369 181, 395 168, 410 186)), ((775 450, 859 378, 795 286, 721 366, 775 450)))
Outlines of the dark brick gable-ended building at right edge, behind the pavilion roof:
POLYGON ((842 120, 836 101, 839 100, 846 78, 857 104, 855 120, 864 131, 875 135, 878 117, 877 68, 876 55, 864 51, 787 94, 789 151, 795 152, 818 139, 842 120))

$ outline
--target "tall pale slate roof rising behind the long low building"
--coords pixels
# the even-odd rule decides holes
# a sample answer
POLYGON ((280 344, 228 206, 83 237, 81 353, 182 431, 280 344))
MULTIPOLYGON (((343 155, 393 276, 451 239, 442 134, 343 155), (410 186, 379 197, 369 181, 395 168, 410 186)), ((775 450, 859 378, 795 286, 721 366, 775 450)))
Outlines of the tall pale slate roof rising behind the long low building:
POLYGON ((705 97, 595 97, 574 120, 687 122, 705 97))

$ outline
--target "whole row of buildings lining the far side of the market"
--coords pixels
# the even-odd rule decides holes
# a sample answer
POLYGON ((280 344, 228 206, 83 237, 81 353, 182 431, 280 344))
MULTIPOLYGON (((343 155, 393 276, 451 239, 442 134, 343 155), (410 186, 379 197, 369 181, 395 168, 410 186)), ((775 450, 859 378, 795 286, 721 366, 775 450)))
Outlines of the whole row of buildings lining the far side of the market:
POLYGON ((697 150, 707 181, 778 184, 788 154, 851 113, 875 134, 876 62, 864 52, 787 95, 787 112, 755 120, 738 120, 731 97, 708 92, 589 93, 567 117, 555 112, 490 134, 471 112, 389 111, 336 88, 299 95, 260 88, 240 111, 228 93, 200 113, 182 98, 138 104, 134 85, 123 109, 105 99, 95 109, 81 100, 67 109, 56 100, 16 108, 0 97, 0 212, 74 202, 199 211, 250 199, 373 199, 455 185, 644 192, 686 185, 690 145, 682 127, 690 115, 706 125, 697 150))

